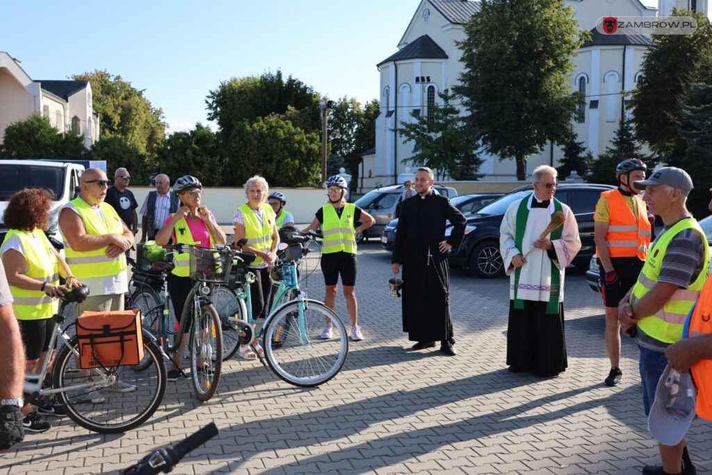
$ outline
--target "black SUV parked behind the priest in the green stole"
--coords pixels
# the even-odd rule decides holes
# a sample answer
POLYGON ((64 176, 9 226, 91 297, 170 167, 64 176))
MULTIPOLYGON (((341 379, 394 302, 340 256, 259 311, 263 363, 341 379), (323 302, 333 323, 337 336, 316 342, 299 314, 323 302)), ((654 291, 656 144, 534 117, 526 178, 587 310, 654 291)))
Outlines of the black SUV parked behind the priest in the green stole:
MULTIPOLYGON (((593 214, 601 192, 615 187, 607 184, 559 184, 556 198, 567 204, 576 216, 581 250, 573 263, 587 267, 595 254, 593 242, 593 214)), ((468 268, 475 276, 493 278, 504 274, 499 254, 499 226, 509 205, 532 192, 532 186, 520 187, 480 209, 467 219, 465 237, 460 250, 450 256, 451 266, 468 268)), ((452 229, 449 226, 448 229, 452 229)), ((446 229, 446 234, 449 231, 446 229)))

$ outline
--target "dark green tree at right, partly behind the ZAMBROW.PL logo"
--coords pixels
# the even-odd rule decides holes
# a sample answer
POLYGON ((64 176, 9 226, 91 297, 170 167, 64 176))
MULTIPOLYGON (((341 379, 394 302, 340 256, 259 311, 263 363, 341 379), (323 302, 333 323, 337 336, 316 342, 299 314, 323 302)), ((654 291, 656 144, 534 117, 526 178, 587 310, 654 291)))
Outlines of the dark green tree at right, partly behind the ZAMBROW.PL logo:
POLYGON ((693 16, 697 30, 691 35, 653 35, 642 65, 642 79, 633 91, 633 123, 639 140, 646 142, 670 165, 676 149, 681 98, 698 76, 701 61, 712 54, 712 27, 701 13, 674 10, 674 16, 693 16))

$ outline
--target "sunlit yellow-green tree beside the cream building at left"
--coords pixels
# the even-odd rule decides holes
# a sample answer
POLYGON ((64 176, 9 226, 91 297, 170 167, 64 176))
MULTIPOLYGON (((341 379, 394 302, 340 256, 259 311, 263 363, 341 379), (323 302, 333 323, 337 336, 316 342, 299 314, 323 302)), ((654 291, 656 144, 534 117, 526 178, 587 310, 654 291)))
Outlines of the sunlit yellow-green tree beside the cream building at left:
POLYGON ((100 139, 122 137, 146 157, 155 158, 163 146, 166 124, 163 111, 154 108, 143 95, 120 75, 95 70, 73 75, 88 80, 93 91, 93 107, 99 113, 100 139))

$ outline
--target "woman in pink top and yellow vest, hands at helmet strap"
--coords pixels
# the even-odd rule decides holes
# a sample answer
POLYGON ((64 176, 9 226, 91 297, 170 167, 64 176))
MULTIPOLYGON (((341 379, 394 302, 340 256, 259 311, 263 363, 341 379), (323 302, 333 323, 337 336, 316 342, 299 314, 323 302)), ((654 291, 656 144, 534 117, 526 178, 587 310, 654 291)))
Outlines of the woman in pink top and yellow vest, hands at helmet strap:
MULTIPOLYGON (((170 239, 176 244, 194 244, 205 248, 225 244, 225 232, 218 226, 210 210, 200 204, 203 185, 199 179, 190 175, 180 177, 173 184, 173 191, 177 194, 181 207, 166 218, 163 227, 156 233, 157 244, 168 244, 170 239)), ((190 254, 187 252, 174 254, 175 268, 168 276, 168 291, 177 319, 183 313, 185 301, 193 288, 189 277, 189 259, 190 254)), ((176 365, 183 363, 183 351, 188 342, 189 331, 190 325, 186 325, 180 349, 173 357, 176 365)), ((177 381, 179 377, 178 367, 172 367, 168 372, 168 380, 177 381)))

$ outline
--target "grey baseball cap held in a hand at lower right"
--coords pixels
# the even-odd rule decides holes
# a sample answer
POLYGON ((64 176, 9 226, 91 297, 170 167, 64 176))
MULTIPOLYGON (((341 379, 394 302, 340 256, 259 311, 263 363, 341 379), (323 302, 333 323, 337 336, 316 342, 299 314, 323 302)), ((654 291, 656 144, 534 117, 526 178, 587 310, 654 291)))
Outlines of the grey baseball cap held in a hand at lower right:
POLYGON ((695 418, 696 392, 689 371, 665 367, 648 415, 648 429, 658 442, 676 445, 685 437, 695 418))

